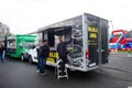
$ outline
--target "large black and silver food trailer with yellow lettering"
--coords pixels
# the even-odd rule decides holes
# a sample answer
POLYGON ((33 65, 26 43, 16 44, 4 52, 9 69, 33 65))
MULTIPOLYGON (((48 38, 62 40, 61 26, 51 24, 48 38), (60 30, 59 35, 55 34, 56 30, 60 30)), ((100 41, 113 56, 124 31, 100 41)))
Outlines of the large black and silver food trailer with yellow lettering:
MULTIPOLYGON (((108 20, 84 13, 81 15, 57 22, 47 26, 40 28, 37 37, 48 40, 50 57, 47 65, 55 66, 57 63, 58 37, 72 42, 67 45, 68 68, 81 72, 88 72, 99 68, 108 61, 108 20)), ((36 52, 36 51, 34 51, 36 52)), ((36 53, 30 54, 32 59, 36 59, 36 53)), ((35 61, 37 62, 37 61, 35 61)))

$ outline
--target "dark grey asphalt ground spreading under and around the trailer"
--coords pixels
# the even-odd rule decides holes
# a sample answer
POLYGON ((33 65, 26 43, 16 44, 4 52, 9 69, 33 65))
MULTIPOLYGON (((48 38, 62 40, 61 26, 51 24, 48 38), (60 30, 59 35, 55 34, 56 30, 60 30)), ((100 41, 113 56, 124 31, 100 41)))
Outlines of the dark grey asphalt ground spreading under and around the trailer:
POLYGON ((53 67, 40 76, 36 65, 7 59, 0 63, 0 88, 128 88, 132 86, 132 57, 111 54, 110 63, 102 70, 69 72, 69 79, 57 80, 53 67))

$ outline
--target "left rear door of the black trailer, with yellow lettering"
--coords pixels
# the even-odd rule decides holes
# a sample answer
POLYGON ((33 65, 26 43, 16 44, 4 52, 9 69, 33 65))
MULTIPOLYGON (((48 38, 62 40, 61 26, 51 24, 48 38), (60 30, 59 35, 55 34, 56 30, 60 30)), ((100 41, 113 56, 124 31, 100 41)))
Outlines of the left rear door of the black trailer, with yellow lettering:
POLYGON ((98 54, 98 33, 99 33, 99 19, 88 14, 88 53, 89 53, 89 67, 99 64, 98 54))

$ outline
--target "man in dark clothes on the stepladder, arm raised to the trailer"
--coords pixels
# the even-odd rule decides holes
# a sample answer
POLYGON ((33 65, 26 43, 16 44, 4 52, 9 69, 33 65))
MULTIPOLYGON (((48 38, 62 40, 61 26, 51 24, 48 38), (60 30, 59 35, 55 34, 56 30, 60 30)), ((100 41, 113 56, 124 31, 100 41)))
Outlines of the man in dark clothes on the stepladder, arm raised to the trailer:
POLYGON ((69 44, 70 42, 72 42, 72 38, 68 42, 64 42, 64 38, 61 36, 59 43, 57 45, 58 56, 63 61, 61 63, 61 70, 63 74, 64 74, 64 69, 65 69, 65 64, 67 63, 67 54, 68 54, 66 45, 69 44))

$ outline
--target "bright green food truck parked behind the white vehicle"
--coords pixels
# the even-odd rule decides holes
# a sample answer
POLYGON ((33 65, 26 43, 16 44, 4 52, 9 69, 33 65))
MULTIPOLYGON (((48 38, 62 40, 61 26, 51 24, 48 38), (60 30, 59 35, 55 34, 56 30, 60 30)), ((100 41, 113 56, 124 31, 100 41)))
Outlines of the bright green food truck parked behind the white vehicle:
POLYGON ((29 59, 29 50, 34 45, 35 35, 11 35, 7 37, 7 55, 9 57, 29 59))

